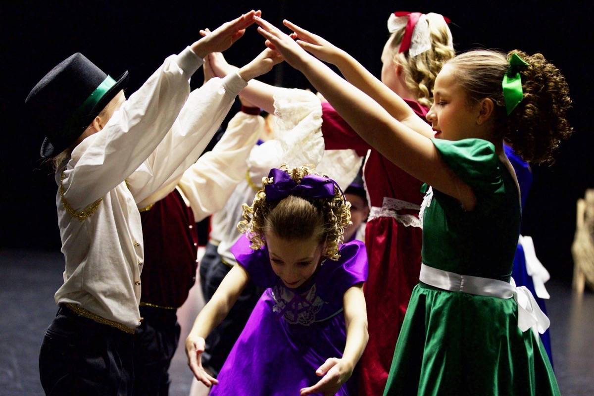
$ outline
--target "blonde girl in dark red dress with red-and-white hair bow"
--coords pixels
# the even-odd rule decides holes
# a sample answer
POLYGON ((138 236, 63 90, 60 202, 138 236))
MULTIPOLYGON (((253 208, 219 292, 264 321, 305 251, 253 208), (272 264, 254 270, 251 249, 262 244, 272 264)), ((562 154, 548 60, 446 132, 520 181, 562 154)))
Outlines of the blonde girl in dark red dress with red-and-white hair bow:
MULTIPOLYGON (((358 85, 358 65, 347 53, 319 36, 301 32, 303 45, 324 61, 338 66, 347 80, 358 85)), ((450 29, 440 14, 394 12, 388 18, 391 33, 381 54, 381 81, 365 71, 365 78, 383 90, 394 91, 419 117, 431 106, 435 76, 441 66, 453 58, 450 29)), ((213 70, 220 77, 233 71, 220 55, 211 58, 213 70)), ((360 86, 359 84, 358 86, 360 86)), ((364 89, 365 90, 365 89, 364 89)), ((279 88, 250 81, 242 90, 249 100, 272 111, 279 88)), ((369 93, 369 92, 368 92, 369 93)), ((373 95, 372 95, 373 96, 373 95)), ((390 109, 390 99, 374 96, 390 109)), ((391 356, 404 320, 413 287, 421 270, 421 181, 386 159, 359 137, 331 104, 323 103, 322 132, 326 148, 352 148, 365 155, 364 180, 371 214, 365 229, 365 247, 369 255, 369 277, 365 283, 365 301, 369 321, 369 343, 359 363, 359 393, 380 394, 388 378, 391 356)))

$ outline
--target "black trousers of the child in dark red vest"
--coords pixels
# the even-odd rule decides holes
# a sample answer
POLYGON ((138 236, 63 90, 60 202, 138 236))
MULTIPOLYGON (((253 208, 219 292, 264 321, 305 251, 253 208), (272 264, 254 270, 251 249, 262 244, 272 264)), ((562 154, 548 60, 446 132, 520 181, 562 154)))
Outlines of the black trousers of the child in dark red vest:
POLYGON ((169 365, 178 347, 177 310, 140 307, 144 318, 134 334, 134 395, 169 395, 169 365))

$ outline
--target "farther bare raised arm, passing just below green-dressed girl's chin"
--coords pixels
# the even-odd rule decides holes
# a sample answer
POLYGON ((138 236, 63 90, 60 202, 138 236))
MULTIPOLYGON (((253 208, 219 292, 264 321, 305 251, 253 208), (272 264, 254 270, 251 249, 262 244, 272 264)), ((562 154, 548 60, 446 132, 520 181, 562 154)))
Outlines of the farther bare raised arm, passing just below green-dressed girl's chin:
POLYGON ((381 107, 384 107, 391 116, 420 134, 428 138, 433 137, 434 132, 431 126, 416 115, 400 96, 378 80, 355 58, 328 42, 328 40, 323 39, 323 37, 311 33, 296 24, 287 20, 284 20, 283 24, 293 30, 294 33, 291 34, 291 37, 297 39, 297 43, 302 48, 311 52, 316 58, 336 65, 349 83, 368 94, 381 107))

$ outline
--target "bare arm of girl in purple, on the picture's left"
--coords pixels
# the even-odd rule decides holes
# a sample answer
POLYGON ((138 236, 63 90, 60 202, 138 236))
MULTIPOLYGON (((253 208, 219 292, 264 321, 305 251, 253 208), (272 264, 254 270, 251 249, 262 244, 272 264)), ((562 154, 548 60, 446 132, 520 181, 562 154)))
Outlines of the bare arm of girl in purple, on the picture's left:
POLYGON ((192 330, 185 341, 188 366, 198 381, 207 387, 218 384, 219 381, 208 375, 202 367, 201 356, 204 352, 204 339, 215 328, 237 301, 239 294, 248 284, 249 274, 241 265, 235 265, 223 278, 219 289, 214 292, 213 297, 198 313, 192 330))

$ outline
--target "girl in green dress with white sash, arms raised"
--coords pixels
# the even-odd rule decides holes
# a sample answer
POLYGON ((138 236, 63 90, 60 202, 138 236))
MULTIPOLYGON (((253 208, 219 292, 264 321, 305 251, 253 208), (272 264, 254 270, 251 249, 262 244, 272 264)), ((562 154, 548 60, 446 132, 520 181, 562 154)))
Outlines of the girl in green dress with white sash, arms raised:
POLYGON ((422 207, 421 282, 384 394, 559 394, 533 334, 546 330, 548 318, 526 288, 509 283, 520 196, 503 139, 527 161, 552 159, 571 134, 560 71, 540 54, 457 56, 435 80, 427 119, 440 138, 429 139, 428 126, 399 97, 394 119, 289 36, 256 20, 267 45, 304 72, 369 144, 432 186, 422 207))

